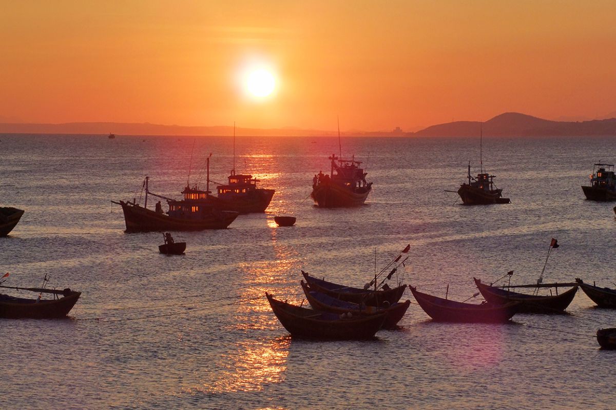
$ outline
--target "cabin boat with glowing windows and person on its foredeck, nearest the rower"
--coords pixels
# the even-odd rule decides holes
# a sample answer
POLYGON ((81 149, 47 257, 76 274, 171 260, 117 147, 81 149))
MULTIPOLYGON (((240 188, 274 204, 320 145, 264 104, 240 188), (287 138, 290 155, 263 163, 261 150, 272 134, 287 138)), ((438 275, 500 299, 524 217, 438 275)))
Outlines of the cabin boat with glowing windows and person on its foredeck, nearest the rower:
POLYGON ((174 200, 163 195, 153 194, 148 189, 149 177, 145 177, 145 203, 141 207, 132 202, 115 202, 122 207, 126 232, 147 231, 202 231, 203 229, 226 229, 239 215, 235 211, 221 211, 205 200, 206 191, 197 187, 186 187, 183 200, 174 200), (147 208, 148 195, 167 201, 169 210, 164 213, 160 201, 155 210, 147 208))

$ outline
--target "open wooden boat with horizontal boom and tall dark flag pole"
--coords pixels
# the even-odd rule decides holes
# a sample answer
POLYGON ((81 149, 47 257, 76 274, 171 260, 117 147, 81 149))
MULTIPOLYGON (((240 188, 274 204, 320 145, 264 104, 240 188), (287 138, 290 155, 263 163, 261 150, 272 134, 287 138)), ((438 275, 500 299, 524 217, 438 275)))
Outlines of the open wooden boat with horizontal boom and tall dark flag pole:
MULTIPOLYGON (((540 296, 505 290, 505 286, 497 287, 486 285, 485 283, 481 283, 481 280, 477 278, 473 278, 473 280, 482 296, 491 304, 506 305, 511 302, 519 302, 519 306, 517 307, 518 313, 563 313, 571 301, 573 301, 573 297, 578 289, 575 283, 546 283, 545 285, 540 285, 540 287, 556 288, 556 294, 551 296, 540 296), (558 294, 559 287, 568 287, 570 285, 573 285, 571 289, 558 294)), ((507 286, 507 289, 519 287, 537 288, 537 285, 507 286)))

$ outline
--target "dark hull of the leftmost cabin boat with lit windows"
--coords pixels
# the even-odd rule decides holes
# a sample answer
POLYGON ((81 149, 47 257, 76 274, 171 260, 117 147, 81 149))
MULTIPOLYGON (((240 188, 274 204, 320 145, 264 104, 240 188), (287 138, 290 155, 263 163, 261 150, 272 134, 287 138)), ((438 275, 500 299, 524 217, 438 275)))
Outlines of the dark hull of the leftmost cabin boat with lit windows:
MULTIPOLYGON (((116 202, 117 203, 117 202, 116 202)), ((202 213, 199 219, 173 218, 128 202, 119 202, 124 212, 126 232, 150 231, 203 231, 226 229, 237 218, 233 211, 202 213)))

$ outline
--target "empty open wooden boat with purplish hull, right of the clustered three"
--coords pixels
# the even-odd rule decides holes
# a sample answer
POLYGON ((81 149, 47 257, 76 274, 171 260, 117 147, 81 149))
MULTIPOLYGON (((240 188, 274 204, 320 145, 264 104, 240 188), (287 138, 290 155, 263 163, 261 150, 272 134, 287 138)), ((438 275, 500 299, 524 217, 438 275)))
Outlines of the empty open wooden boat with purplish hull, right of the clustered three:
POLYGON ((408 286, 421 309, 435 321, 454 321, 460 323, 505 323, 517 312, 517 302, 505 305, 484 303, 480 305, 450 301, 430 294, 421 293, 408 286))

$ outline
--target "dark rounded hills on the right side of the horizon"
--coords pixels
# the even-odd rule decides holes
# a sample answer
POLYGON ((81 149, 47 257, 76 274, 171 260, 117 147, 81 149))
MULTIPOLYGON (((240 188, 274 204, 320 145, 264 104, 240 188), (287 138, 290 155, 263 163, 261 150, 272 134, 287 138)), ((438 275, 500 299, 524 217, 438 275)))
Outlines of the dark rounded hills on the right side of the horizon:
POLYGON ((590 136, 615 135, 616 118, 590 121, 551 121, 518 112, 505 112, 483 123, 456 121, 432 125, 414 136, 590 136))

